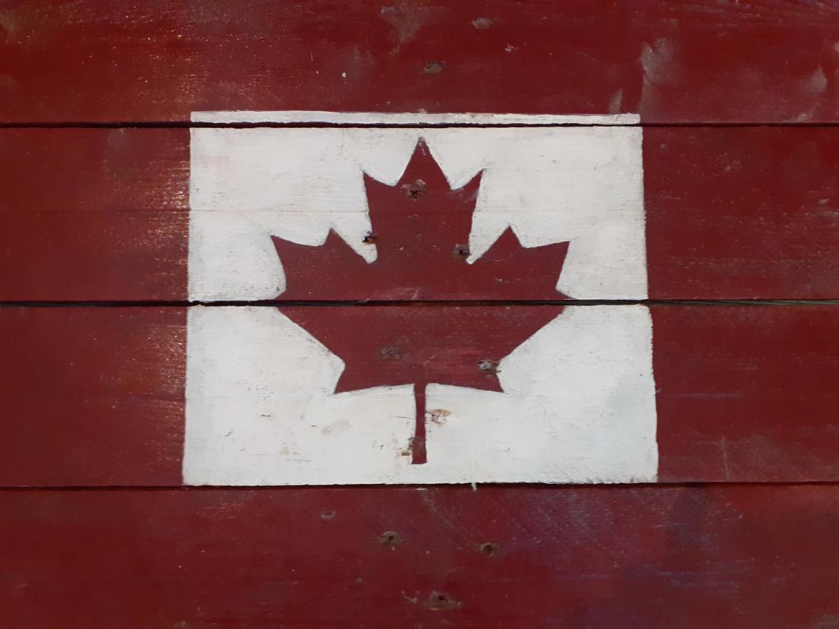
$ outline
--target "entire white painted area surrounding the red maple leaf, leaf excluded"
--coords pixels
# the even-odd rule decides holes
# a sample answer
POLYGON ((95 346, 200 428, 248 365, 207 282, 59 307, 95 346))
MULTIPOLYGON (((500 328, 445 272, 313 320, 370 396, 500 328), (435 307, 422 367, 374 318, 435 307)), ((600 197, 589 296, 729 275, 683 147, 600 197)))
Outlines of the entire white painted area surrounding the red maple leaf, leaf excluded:
MULTIPOLYGON (((362 245, 370 230, 363 173, 395 185, 420 138, 452 187, 483 171, 470 261, 513 226, 526 247, 570 242, 562 293, 647 296, 642 129, 627 126, 636 116, 193 119, 383 126, 192 129, 190 299, 281 293, 272 235, 317 245, 334 228, 375 259, 375 247, 362 245), (595 126, 550 126, 583 121, 595 126), (502 126, 512 123, 529 126, 502 126), (446 124, 466 126, 433 126, 446 124)), ((504 392, 429 385, 428 462, 411 465, 412 386, 335 394, 341 359, 278 309, 196 306, 188 320, 185 483, 654 481, 651 336, 641 306, 566 308, 502 361, 504 392)))

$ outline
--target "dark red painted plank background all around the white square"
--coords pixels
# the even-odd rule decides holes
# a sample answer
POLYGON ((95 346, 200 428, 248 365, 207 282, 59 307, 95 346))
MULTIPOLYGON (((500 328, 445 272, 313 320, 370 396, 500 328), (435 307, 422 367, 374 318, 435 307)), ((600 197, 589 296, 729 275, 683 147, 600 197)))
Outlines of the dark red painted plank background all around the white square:
POLYGON ((173 487, 158 303, 190 112, 234 109, 638 113, 652 298, 837 299, 836 42, 780 0, 3 3, 0 624, 839 626, 833 304, 653 307, 664 484, 472 491, 173 487))

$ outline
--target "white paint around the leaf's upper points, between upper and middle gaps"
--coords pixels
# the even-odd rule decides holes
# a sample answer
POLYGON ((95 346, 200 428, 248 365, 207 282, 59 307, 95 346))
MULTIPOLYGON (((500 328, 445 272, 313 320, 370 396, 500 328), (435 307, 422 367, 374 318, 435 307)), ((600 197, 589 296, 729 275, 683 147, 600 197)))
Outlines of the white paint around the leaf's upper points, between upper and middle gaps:
POLYGON ((190 299, 273 299, 271 235, 334 228, 373 260, 362 173, 394 185, 420 138, 452 187, 483 170, 472 262, 511 225, 525 247, 571 242, 562 293, 646 298, 642 129, 618 126, 192 129, 190 299))

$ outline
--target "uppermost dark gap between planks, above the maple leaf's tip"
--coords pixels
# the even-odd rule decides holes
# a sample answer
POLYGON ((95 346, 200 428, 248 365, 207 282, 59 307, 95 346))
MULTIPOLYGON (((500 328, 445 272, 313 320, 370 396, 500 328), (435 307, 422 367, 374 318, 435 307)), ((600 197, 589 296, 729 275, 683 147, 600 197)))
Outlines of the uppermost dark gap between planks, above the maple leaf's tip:
POLYGON ((516 127, 647 127, 647 128, 833 128, 836 122, 632 122, 592 123, 556 122, 530 124, 481 124, 481 123, 349 123, 349 122, 190 122, 190 121, 129 121, 129 122, 0 122, 0 129, 190 129, 190 128, 516 128, 516 127))

